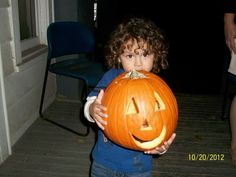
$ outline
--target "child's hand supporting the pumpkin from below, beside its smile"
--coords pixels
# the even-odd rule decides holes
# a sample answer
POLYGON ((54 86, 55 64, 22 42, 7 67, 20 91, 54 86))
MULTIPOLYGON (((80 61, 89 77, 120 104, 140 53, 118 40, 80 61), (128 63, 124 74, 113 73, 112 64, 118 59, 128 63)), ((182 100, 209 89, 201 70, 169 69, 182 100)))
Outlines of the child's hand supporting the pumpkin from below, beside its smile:
POLYGON ((148 150, 145 151, 145 154, 159 154, 162 155, 164 154, 170 147, 170 145, 172 144, 172 142, 174 141, 176 137, 176 133, 173 133, 170 137, 170 139, 168 139, 168 141, 164 142, 164 145, 162 145, 161 147, 156 147, 152 150, 148 150))

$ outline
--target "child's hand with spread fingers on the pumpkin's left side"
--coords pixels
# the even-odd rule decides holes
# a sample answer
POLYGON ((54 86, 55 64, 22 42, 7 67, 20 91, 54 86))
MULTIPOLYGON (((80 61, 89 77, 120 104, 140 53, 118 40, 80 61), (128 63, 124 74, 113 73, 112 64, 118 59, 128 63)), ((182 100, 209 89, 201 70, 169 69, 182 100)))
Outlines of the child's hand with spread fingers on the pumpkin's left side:
POLYGON ((107 125, 107 122, 104 120, 104 118, 107 118, 107 114, 104 114, 107 108, 101 104, 103 95, 104 90, 100 90, 96 100, 89 107, 90 116, 102 130, 104 130, 103 125, 107 125))

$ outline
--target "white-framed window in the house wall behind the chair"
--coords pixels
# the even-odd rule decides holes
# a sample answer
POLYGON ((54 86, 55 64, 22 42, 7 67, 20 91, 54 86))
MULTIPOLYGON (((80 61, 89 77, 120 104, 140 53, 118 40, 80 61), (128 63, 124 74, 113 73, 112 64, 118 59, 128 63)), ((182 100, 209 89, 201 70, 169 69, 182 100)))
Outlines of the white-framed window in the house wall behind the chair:
POLYGON ((53 0, 12 0, 16 68, 46 51, 53 0))

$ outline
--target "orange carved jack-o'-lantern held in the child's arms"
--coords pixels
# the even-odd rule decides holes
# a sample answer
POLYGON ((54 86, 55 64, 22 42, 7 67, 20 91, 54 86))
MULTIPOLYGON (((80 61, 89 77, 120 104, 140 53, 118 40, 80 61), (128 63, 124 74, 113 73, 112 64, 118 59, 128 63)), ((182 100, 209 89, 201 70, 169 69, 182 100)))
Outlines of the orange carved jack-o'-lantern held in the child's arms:
POLYGON ((162 145, 177 126, 175 96, 158 76, 132 71, 117 76, 106 88, 104 133, 114 143, 133 150, 162 145))

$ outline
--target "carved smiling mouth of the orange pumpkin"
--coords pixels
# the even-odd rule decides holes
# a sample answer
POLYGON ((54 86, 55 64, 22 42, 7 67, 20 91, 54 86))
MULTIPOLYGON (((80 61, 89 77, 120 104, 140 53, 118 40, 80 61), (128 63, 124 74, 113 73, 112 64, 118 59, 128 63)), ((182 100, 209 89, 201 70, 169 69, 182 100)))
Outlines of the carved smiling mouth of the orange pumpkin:
POLYGON ((132 137, 132 139, 134 140, 135 144, 138 147, 141 147, 141 148, 144 148, 144 149, 153 149, 163 141, 165 135, 166 135, 166 127, 164 126, 162 131, 161 131, 160 136, 158 136, 157 138, 155 138, 151 141, 141 140, 133 134, 131 134, 131 137, 132 137))

